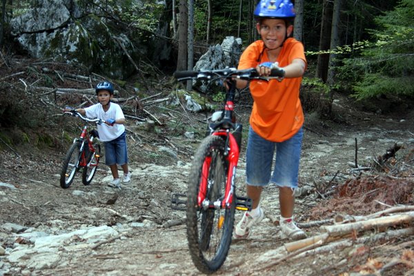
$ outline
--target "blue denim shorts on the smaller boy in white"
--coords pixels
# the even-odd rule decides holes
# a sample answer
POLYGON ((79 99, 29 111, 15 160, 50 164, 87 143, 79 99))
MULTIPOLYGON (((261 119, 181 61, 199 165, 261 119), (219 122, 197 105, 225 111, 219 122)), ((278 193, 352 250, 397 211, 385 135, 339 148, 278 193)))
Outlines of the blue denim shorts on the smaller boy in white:
POLYGON ((103 142, 105 145, 105 164, 122 166, 128 163, 128 152, 126 150, 126 132, 119 135, 117 139, 103 142))

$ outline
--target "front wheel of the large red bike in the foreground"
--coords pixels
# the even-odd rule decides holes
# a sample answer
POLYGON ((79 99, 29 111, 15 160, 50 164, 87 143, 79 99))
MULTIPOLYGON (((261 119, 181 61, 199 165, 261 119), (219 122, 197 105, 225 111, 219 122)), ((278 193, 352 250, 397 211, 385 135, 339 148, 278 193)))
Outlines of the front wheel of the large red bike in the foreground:
POLYGON ((188 246, 195 266, 208 274, 218 270, 228 255, 235 221, 235 201, 229 208, 203 208, 197 203, 197 198, 201 184, 206 183, 206 199, 210 203, 223 199, 227 164, 224 140, 208 136, 195 154, 188 180, 188 246), (206 166, 208 170, 205 170, 206 166))

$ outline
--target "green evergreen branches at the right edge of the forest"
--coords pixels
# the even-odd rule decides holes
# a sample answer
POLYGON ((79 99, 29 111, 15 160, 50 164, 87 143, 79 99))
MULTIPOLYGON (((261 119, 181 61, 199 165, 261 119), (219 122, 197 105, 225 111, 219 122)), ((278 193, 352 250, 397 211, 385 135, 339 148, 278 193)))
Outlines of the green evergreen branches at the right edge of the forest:
POLYGON ((353 97, 414 96, 413 18, 414 1, 400 1, 394 10, 375 19, 380 26, 371 30, 375 41, 360 44, 358 57, 344 59, 338 77, 348 83, 353 97))

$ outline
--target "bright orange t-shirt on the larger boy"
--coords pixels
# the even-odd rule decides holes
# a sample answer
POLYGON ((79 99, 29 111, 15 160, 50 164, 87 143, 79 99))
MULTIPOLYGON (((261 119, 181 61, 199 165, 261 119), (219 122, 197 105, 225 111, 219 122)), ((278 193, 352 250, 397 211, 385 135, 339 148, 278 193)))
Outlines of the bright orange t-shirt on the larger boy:
MULTIPOLYGON (((238 69, 255 68, 259 63, 269 61, 262 40, 255 41, 240 57, 238 69)), ((306 63, 304 46, 296 39, 286 39, 277 57, 280 67, 288 66, 293 59, 303 59, 306 63)), ((250 93, 253 97, 253 110, 250 126, 260 136, 269 141, 281 142, 293 137, 304 124, 304 112, 299 100, 302 77, 277 81, 252 80, 250 93)))

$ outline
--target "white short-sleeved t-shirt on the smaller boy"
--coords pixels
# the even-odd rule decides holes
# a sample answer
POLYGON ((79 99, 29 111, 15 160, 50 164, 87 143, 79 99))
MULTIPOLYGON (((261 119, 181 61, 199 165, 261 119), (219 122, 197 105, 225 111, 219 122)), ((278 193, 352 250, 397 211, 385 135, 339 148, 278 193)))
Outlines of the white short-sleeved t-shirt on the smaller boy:
MULTIPOLYGON (((93 106, 85 108, 86 117, 90 119, 101 119, 106 121, 108 119, 125 119, 124 112, 122 112, 121 106, 117 103, 110 103, 108 111, 103 111, 101 103, 96 103, 93 106)), ((125 131, 125 126, 123 124, 114 124, 113 126, 108 126, 105 124, 97 125, 97 130, 99 132, 99 139, 101 141, 112 141, 117 139, 125 131)))

